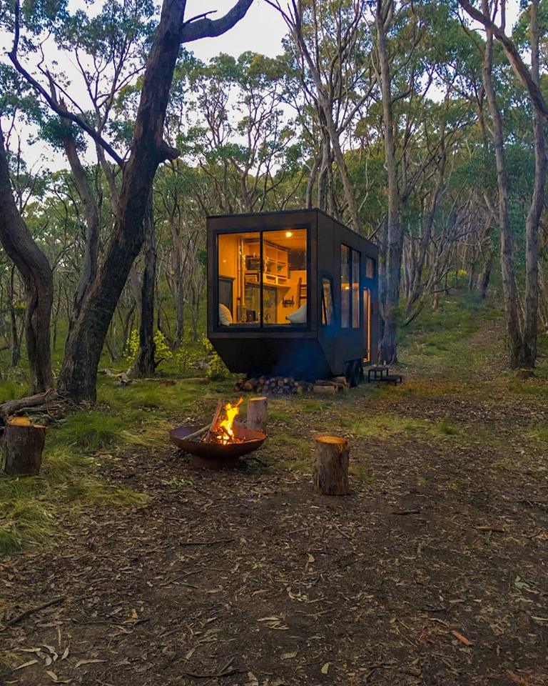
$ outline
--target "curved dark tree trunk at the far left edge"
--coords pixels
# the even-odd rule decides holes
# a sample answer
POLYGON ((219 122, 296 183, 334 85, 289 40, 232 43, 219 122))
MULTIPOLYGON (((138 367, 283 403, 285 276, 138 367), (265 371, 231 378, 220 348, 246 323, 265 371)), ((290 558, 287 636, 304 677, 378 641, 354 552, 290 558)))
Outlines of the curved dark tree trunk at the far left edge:
POLYGON ((11 192, 4 136, 0 131, 0 242, 23 277, 26 289, 25 336, 31 391, 53 385, 49 324, 54 300, 54 276, 49 262, 21 218, 11 192))

